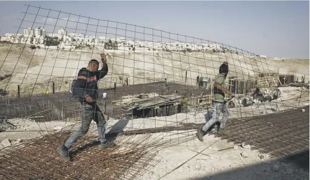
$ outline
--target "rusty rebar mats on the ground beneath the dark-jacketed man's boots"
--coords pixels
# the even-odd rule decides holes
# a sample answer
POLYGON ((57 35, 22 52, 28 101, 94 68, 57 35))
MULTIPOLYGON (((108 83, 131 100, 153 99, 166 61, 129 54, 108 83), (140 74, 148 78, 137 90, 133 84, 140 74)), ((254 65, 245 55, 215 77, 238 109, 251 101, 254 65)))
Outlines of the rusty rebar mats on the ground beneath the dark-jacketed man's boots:
MULTIPOLYGON (((100 149, 93 131, 74 144, 71 162, 61 160, 55 151, 71 129, 27 140, 24 143, 0 152, 0 177, 5 180, 133 180, 141 176, 158 160, 158 150, 186 142, 190 137, 173 140, 150 138, 150 134, 119 134, 117 146, 100 149)), ((114 137, 113 134, 107 134, 114 137)), ((192 138, 192 137, 191 137, 192 138)))

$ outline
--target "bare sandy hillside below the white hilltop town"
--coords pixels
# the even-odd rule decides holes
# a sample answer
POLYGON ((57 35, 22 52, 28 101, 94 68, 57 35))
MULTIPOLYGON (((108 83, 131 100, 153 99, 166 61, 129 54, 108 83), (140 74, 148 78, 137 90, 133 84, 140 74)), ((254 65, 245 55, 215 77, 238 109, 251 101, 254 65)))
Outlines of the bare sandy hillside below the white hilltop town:
MULTIPOLYGON (((53 46, 37 49, 23 47, 24 45, 15 44, 12 47, 0 46, 0 75, 12 75, 11 78, 0 82, 5 90, 15 90, 17 85, 21 85, 21 89, 36 90, 34 84, 47 87, 49 82, 67 81, 62 77, 76 76, 77 71, 85 67, 90 59, 100 59, 99 53, 102 51, 109 54, 109 75, 103 82, 104 86, 124 84, 126 78, 129 84, 163 81, 165 78, 170 82, 183 82, 186 71, 186 84, 195 85, 198 75, 212 78, 224 61, 230 64, 229 76, 237 75, 240 78, 251 79, 258 73, 279 72, 293 73, 299 78, 306 74, 306 81, 309 80, 309 59, 264 59, 255 56, 248 58, 248 54, 238 55, 230 52, 211 54, 150 51, 143 47, 137 47, 135 51, 129 51, 127 47, 118 50, 95 47, 71 51, 68 47, 64 47, 64 50, 57 50, 53 46)), ((69 78, 70 81, 71 79, 69 78)))

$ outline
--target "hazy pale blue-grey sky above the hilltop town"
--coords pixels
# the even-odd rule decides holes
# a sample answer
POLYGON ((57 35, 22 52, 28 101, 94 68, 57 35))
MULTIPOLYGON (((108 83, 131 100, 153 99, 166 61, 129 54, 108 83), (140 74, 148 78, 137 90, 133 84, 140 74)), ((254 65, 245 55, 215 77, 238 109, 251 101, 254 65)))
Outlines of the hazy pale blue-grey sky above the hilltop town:
POLYGON ((196 43, 209 40, 269 57, 309 58, 310 54, 309 1, 0 1, 0 17, 0 36, 5 33, 16 34, 18 27, 21 27, 18 33, 22 34, 28 26, 33 29, 44 27, 47 34, 57 33, 61 29, 55 27, 57 24, 66 27, 68 33, 85 33, 87 28, 86 36, 112 38, 118 34, 117 37, 162 39, 164 42, 169 38, 172 41, 179 39, 196 43), (21 23, 18 18, 23 19, 24 13, 21 12, 27 10, 24 4, 100 21, 56 11, 49 13, 44 9, 38 11, 38 8, 30 7, 27 13, 51 18, 26 14, 21 23), (109 28, 106 28, 107 25, 109 28), (118 30, 112 27, 118 27, 118 30))

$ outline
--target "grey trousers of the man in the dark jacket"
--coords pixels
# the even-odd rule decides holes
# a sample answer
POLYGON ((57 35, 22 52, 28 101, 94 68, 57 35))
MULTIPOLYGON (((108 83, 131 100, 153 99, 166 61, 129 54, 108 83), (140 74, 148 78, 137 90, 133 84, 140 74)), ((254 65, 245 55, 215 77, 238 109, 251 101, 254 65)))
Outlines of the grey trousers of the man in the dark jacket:
POLYGON ((81 136, 88 132, 90 123, 94 120, 97 123, 99 141, 106 142, 106 120, 95 103, 81 103, 82 116, 81 126, 64 143, 64 146, 70 148, 81 136))

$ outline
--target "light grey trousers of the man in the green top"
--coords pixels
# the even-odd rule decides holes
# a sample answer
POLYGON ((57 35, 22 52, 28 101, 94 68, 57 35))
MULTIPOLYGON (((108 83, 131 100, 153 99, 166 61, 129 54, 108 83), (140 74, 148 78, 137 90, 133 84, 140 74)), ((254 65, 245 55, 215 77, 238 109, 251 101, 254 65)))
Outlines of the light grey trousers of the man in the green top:
POLYGON ((216 123, 220 117, 221 112, 223 113, 222 121, 220 121, 221 125, 220 128, 225 128, 225 123, 228 119, 229 112, 227 109, 227 104, 224 102, 213 102, 212 108, 212 118, 204 125, 202 130, 206 132, 214 123, 216 123))

